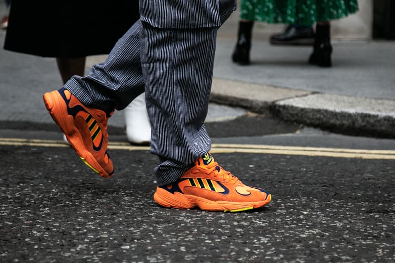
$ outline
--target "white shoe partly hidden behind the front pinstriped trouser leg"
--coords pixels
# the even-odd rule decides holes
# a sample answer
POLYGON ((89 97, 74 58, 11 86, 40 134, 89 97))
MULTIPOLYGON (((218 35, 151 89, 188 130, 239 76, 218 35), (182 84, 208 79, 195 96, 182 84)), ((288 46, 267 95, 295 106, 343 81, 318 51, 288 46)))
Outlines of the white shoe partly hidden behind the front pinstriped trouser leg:
POLYGON ((151 124, 145 105, 145 93, 137 96, 124 111, 127 140, 133 144, 149 144, 151 124))

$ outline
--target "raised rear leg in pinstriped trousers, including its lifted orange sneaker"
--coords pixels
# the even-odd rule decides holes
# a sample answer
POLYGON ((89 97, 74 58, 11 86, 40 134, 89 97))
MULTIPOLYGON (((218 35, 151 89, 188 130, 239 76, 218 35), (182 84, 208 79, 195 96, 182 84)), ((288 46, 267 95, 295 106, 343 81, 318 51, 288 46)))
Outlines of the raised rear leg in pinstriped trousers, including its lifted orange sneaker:
POLYGON ((62 89, 44 94, 52 118, 79 157, 103 177, 114 173, 107 154, 107 121, 144 91, 140 65, 139 25, 117 42, 106 61, 89 75, 73 76, 62 89))

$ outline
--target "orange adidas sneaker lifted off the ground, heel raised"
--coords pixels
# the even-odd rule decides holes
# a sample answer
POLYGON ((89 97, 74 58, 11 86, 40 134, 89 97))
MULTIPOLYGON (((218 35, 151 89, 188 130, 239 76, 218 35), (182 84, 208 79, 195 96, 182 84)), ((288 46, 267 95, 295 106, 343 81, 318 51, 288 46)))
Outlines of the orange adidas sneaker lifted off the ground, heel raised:
POLYGON ((100 176, 111 177, 114 167, 107 154, 107 120, 112 113, 107 116, 84 106, 64 88, 45 93, 44 103, 82 161, 100 176))

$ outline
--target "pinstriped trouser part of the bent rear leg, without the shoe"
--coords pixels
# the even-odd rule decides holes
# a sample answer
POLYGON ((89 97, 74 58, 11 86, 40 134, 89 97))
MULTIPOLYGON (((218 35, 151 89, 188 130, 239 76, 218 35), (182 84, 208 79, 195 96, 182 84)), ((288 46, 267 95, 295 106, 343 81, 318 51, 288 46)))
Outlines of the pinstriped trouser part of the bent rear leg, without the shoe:
POLYGON ((72 77, 64 87, 87 106, 110 112, 124 109, 144 92, 140 64, 140 25, 136 22, 118 40, 105 62, 88 75, 72 77))

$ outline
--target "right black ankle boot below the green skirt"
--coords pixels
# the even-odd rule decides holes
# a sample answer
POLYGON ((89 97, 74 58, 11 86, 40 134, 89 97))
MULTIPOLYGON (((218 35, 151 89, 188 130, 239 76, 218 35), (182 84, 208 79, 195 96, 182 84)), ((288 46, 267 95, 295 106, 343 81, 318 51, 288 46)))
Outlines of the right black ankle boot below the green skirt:
POLYGON ((320 67, 332 67, 332 45, 330 44, 330 25, 317 24, 314 38, 313 53, 309 63, 320 67))

